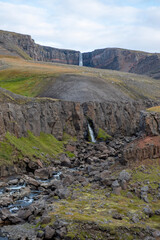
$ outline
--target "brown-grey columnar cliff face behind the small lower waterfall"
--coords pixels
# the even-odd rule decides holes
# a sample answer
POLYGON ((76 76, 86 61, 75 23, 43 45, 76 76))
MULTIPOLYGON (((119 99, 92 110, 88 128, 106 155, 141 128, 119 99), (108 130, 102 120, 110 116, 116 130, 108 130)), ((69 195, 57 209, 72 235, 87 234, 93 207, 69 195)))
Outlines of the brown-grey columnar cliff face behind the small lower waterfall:
POLYGON ((133 103, 75 103, 52 100, 16 102, 0 105, 0 136, 7 131, 18 137, 27 131, 53 134, 61 140, 63 133, 83 138, 88 131, 87 120, 93 123, 94 131, 104 129, 110 135, 133 135, 139 131, 139 110, 144 105, 133 103))

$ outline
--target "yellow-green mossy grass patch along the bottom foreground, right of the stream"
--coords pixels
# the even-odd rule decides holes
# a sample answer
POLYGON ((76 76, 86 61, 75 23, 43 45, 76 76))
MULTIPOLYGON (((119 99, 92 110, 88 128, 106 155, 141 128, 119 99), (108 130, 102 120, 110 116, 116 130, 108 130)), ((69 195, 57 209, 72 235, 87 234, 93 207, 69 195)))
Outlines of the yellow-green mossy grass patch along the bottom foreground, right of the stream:
MULTIPOLYGON (((116 234, 118 228, 125 229, 127 227, 128 231, 130 231, 129 229, 133 227, 143 229, 144 225, 148 225, 159 229, 159 219, 156 216, 150 219, 146 218, 143 212, 144 201, 134 194, 131 202, 131 199, 126 196, 126 192, 123 190, 121 195, 117 196, 111 194, 109 198, 106 197, 107 189, 94 190, 92 185, 83 188, 75 188, 74 192, 77 192, 77 199, 72 200, 69 198, 63 201, 54 202, 55 211, 50 213, 51 217, 58 216, 60 219, 65 219, 70 223, 68 227, 68 236, 73 239, 76 236, 78 236, 78 239, 83 239, 87 234, 91 234, 92 231, 94 231, 92 227, 87 231, 84 227, 87 224, 89 224, 89 226, 92 224, 95 226, 96 224, 99 229, 98 233, 102 234, 102 236, 104 231, 100 229, 109 229, 113 235, 116 234), (122 214, 123 219, 113 219, 112 216, 115 212, 122 214), (131 216, 134 214, 141 219, 140 222, 133 223, 131 221, 131 216), (82 231, 84 234, 82 234, 82 231)), ((153 202, 149 205, 152 209, 156 209, 159 202, 160 201, 157 203, 153 202)), ((131 236, 133 235, 131 234, 130 238, 124 239, 132 239, 131 236)), ((102 239, 105 239, 103 237, 102 239)), ((101 239, 101 237, 97 239, 101 239)))

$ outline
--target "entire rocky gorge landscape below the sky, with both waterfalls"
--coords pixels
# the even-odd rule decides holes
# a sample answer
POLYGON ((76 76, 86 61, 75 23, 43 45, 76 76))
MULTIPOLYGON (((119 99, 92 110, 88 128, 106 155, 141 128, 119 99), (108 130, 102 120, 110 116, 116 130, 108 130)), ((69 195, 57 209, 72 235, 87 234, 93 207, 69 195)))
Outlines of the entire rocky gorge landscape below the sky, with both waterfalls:
POLYGON ((1 240, 159 239, 158 69, 0 32, 1 240))

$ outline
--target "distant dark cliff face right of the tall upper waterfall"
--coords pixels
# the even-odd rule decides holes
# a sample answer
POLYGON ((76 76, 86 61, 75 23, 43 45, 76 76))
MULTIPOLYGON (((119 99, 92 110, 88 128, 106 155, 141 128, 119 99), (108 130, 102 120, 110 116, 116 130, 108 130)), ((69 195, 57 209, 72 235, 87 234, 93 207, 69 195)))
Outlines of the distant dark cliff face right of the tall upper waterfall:
POLYGON ((160 77, 160 54, 105 48, 83 54, 84 66, 160 77))

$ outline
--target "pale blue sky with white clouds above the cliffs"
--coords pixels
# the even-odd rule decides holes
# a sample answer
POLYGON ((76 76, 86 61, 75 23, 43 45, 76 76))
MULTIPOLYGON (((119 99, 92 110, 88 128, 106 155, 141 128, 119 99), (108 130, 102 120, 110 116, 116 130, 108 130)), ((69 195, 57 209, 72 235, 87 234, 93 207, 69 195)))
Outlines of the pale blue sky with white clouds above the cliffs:
POLYGON ((0 29, 82 52, 160 52, 160 0, 0 0, 0 29))

